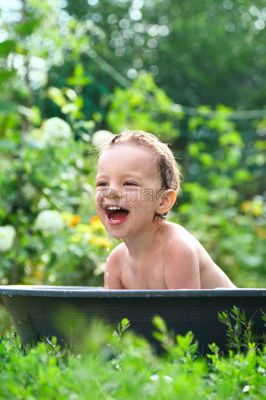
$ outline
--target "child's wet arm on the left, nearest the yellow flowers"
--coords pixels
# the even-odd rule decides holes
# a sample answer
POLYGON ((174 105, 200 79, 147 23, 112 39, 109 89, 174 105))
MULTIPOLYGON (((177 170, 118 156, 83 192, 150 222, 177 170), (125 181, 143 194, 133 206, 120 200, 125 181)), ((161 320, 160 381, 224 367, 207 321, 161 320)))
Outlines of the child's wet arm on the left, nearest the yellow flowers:
POLYGON ((104 289, 124 289, 121 282, 119 245, 112 250, 106 260, 104 270, 104 289))

